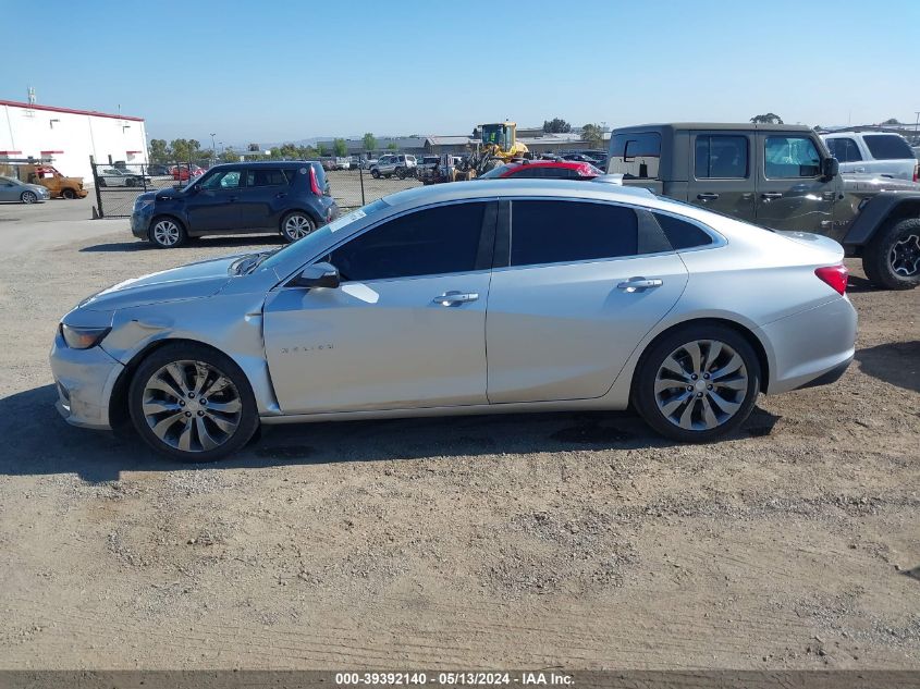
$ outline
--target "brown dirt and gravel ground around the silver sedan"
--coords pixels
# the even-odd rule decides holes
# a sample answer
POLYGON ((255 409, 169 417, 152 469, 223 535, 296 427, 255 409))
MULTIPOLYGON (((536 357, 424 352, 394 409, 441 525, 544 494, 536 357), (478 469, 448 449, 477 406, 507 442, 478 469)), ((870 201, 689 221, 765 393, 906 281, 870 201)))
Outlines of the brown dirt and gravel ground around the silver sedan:
POLYGON ((920 291, 850 261, 854 366, 713 445, 463 417, 184 466, 58 417, 79 298, 248 246, 3 249, 0 667, 920 668, 920 291))

